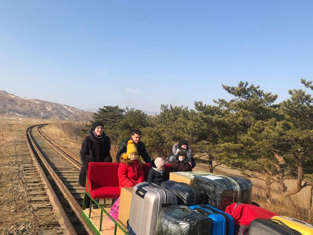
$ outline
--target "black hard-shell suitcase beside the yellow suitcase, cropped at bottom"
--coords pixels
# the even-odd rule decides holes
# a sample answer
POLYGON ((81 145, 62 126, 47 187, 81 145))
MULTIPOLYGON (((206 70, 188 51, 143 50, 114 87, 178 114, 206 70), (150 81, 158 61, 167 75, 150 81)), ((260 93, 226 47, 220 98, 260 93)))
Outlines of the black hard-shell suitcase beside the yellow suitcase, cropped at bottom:
POLYGON ((249 225, 248 235, 301 235, 301 233, 276 219, 255 219, 249 225))

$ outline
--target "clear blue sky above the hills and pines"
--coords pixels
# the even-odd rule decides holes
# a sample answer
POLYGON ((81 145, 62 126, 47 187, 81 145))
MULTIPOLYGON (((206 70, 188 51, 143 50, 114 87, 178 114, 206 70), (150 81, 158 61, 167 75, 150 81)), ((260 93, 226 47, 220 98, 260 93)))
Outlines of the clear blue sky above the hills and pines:
MULTIPOLYGON (((312 1, 1 1, 0 90, 85 110, 289 98, 313 80, 312 1)), ((308 91, 310 92, 310 91, 308 91)))

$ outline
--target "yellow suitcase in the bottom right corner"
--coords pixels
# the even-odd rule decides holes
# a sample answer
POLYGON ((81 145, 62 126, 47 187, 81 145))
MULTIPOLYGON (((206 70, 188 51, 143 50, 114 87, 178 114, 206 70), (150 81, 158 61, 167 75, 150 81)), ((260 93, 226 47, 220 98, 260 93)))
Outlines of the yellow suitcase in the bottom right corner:
POLYGON ((302 235, 313 235, 313 225, 302 220, 297 220, 286 216, 274 216, 272 219, 280 220, 288 227, 299 231, 302 235))

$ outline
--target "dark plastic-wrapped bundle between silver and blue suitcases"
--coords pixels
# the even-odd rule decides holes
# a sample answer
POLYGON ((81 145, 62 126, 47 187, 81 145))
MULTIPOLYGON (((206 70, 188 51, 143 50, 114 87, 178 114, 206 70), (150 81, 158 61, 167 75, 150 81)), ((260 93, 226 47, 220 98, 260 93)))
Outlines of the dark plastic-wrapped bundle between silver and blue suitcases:
POLYGON ((212 219, 187 206, 162 209, 155 235, 211 235, 212 219))

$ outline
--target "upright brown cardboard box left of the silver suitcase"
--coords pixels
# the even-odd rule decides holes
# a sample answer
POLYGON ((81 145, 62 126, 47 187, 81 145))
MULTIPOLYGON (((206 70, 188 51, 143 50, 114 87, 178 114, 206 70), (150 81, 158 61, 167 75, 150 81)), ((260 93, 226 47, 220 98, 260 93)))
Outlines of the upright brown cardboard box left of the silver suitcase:
POLYGON ((131 196, 132 196, 133 189, 134 189, 133 187, 121 188, 118 220, 122 223, 121 225, 123 225, 124 227, 126 227, 127 220, 129 218, 129 213, 131 210, 131 196))

